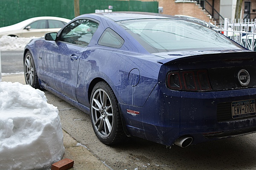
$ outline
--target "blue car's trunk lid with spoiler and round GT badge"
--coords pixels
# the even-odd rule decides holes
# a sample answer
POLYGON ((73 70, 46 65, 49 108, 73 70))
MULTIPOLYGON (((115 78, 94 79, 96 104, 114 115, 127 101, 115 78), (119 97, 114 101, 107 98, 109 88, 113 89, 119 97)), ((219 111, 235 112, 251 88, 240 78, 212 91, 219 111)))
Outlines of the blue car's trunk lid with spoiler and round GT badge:
MULTIPOLYGON (((256 87, 256 52, 239 51, 175 51, 157 53, 164 70, 180 72, 207 70, 212 91, 256 87), (175 67, 174 67, 175 66, 175 67)), ((166 73, 167 74, 167 73, 166 73)), ((195 75, 197 79, 197 75, 195 75)))

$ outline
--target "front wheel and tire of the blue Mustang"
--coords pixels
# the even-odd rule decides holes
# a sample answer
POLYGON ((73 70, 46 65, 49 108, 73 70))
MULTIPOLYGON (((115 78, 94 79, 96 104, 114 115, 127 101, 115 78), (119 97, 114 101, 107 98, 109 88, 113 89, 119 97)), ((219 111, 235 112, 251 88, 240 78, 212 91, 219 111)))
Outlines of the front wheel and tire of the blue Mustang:
POLYGON ((30 51, 27 51, 23 63, 26 84, 32 86, 33 88, 40 89, 38 76, 35 70, 35 62, 30 51))

